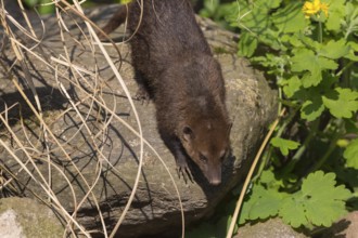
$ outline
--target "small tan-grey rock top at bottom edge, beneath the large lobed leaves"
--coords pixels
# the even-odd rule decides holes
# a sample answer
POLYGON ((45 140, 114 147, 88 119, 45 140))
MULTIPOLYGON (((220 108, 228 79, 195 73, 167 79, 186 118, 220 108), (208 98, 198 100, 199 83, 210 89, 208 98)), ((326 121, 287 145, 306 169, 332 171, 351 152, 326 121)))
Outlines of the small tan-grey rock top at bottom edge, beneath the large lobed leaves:
POLYGON ((239 228, 234 238, 305 238, 280 219, 270 219, 264 223, 246 224, 239 228))

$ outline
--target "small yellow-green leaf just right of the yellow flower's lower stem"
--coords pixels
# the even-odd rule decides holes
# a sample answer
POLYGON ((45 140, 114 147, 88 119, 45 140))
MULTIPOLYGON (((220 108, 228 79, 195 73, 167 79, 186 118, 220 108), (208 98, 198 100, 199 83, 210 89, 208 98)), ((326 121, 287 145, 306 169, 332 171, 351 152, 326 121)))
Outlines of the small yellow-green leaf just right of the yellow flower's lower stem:
POLYGON ((348 53, 349 53, 349 47, 346 45, 346 41, 344 39, 341 39, 338 41, 330 40, 319 51, 319 55, 332 60, 343 57, 348 53))

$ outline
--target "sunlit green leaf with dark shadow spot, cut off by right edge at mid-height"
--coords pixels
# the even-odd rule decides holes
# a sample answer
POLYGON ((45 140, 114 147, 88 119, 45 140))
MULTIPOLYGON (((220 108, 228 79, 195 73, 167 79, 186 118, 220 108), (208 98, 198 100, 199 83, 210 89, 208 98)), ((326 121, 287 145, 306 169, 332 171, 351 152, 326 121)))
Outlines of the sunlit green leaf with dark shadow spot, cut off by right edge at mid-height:
POLYGON ((351 118, 358 110, 358 92, 350 89, 336 88, 322 96, 323 104, 336 118, 351 118))

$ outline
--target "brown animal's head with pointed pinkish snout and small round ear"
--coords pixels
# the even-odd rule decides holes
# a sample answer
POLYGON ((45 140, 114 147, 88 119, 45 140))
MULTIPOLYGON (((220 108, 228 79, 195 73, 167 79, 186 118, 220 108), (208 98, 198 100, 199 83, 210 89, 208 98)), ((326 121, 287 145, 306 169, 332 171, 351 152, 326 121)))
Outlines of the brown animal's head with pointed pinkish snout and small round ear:
POLYGON ((221 183, 221 166, 230 150, 231 123, 208 119, 184 124, 181 143, 212 185, 221 183))

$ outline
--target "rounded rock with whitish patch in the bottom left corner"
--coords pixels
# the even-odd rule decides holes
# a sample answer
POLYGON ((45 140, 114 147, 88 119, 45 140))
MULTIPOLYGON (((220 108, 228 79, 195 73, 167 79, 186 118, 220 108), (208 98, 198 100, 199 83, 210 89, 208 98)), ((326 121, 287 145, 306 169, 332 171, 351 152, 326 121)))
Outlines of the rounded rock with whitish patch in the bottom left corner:
POLYGON ((1 238, 56 238, 64 228, 48 207, 28 198, 0 199, 1 238))

